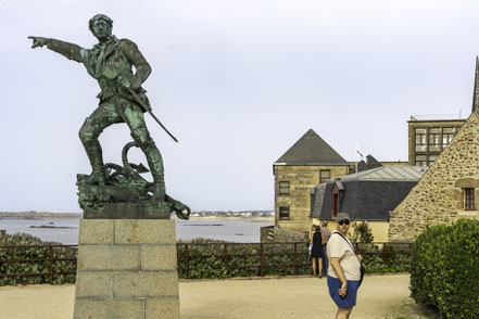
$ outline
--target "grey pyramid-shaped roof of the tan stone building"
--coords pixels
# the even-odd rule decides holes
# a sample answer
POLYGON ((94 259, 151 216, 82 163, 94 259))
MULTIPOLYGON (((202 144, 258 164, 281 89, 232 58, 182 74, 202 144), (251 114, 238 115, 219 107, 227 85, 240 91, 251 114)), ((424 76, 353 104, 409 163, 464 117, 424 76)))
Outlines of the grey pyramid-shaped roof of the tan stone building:
POLYGON ((313 129, 306 131, 275 164, 349 165, 313 129))

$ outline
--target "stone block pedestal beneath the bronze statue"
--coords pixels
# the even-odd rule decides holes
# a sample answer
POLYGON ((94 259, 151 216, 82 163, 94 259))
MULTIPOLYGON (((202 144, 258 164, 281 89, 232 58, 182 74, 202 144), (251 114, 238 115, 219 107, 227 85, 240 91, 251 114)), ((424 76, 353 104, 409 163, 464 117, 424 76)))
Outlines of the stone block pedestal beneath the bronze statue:
POLYGON ((179 318, 175 220, 83 219, 74 318, 179 318))

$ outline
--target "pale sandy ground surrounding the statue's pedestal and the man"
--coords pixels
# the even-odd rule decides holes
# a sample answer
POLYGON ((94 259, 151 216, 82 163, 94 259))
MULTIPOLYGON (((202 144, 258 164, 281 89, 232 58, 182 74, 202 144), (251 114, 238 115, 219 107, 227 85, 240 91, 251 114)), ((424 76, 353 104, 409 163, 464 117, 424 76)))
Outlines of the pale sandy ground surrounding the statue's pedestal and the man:
MULTIPOLYGON (((351 318, 421 318, 411 311, 408 275, 366 276, 351 318)), ((335 318, 326 278, 180 281, 181 318, 335 318)), ((0 288, 0 318, 73 317, 75 285, 0 288)))

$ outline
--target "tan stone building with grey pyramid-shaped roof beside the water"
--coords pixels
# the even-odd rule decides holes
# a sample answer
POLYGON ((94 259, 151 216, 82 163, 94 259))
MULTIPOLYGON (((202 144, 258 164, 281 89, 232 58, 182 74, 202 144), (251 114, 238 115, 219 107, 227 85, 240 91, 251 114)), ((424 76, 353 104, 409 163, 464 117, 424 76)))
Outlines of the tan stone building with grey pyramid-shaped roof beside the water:
POLYGON ((310 189, 346 175, 350 163, 313 129, 273 164, 275 175, 275 226, 307 232, 311 226, 310 189))

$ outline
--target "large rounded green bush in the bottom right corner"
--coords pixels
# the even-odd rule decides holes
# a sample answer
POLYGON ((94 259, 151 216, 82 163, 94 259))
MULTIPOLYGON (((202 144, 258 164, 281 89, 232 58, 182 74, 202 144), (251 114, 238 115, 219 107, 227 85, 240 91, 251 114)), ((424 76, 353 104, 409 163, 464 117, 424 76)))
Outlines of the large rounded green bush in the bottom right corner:
POLYGON ((411 295, 442 318, 479 318, 479 221, 434 226, 413 248, 411 295))

